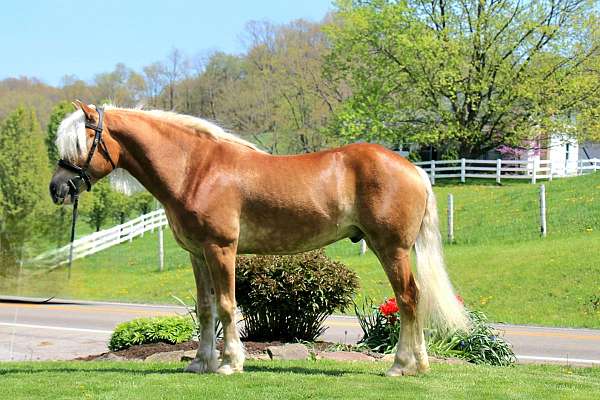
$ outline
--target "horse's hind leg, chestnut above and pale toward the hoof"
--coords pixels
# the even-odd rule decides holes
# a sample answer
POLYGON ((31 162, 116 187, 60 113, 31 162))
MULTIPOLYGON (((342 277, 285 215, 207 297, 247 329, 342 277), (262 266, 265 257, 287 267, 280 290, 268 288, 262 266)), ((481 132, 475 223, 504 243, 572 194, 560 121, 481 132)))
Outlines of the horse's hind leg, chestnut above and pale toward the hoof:
POLYGON ((394 289, 400 308, 401 330, 388 376, 414 375, 429 369, 423 329, 417 318, 419 290, 410 267, 410 249, 375 249, 394 289))

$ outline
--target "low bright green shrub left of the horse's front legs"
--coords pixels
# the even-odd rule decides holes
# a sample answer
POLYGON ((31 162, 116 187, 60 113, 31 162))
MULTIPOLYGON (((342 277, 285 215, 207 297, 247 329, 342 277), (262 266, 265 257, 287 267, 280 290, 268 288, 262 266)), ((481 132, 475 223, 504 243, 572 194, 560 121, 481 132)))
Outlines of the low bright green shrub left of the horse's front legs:
POLYGON ((117 351, 136 344, 177 344, 190 340, 193 335, 194 323, 189 317, 137 318, 117 325, 108 348, 117 351))

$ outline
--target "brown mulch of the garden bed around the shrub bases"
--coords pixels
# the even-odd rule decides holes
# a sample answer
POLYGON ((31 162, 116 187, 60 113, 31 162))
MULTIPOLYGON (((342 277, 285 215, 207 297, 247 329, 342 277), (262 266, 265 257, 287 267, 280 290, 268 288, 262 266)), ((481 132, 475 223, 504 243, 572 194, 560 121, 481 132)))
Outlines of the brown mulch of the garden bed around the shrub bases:
MULTIPOLYGON (((246 349, 246 353, 249 355, 259 355, 265 354, 267 351, 267 347, 269 346, 280 346, 282 342, 249 342, 244 341, 244 348, 246 349)), ((333 343, 328 342, 317 342, 314 343, 314 348, 317 352, 324 351, 330 348, 333 343)), ((163 353, 167 351, 177 351, 177 350, 197 350, 198 342, 190 340, 187 342, 179 343, 179 344, 170 344, 170 343, 149 343, 149 344, 140 344, 137 346, 132 346, 128 349, 119 350, 119 351, 109 351, 107 353, 102 354, 94 354, 85 357, 78 357, 75 360, 79 361, 93 361, 96 359, 103 359, 108 354, 112 354, 118 357, 123 357, 129 360, 143 360, 146 357, 154 354, 154 353, 163 353)), ((223 341, 217 341, 217 350, 223 350, 223 341)))

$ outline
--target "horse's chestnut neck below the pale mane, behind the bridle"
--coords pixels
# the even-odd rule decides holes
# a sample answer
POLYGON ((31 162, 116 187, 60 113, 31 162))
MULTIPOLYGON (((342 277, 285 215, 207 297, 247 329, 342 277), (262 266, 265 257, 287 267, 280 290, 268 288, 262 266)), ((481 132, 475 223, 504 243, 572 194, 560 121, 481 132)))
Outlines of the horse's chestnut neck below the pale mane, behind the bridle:
MULTIPOLYGON (((185 193, 186 170, 192 149, 210 151, 213 141, 190 135, 184 128, 140 113, 121 113, 114 119, 114 136, 121 145, 119 166, 127 170, 161 203, 185 193), (205 141, 198 146, 198 141, 205 141)), ((202 154, 194 152, 194 158, 202 154)))

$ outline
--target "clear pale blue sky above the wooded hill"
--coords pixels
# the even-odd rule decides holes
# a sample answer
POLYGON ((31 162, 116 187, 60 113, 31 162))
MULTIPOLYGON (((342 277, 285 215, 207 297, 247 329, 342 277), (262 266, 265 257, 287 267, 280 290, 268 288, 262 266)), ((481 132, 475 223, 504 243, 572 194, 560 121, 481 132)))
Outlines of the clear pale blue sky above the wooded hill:
POLYGON ((190 56, 240 53, 248 21, 320 21, 332 8, 331 0, 6 1, 0 79, 25 75, 57 85, 74 74, 89 81, 118 62, 139 71, 174 47, 190 56))

